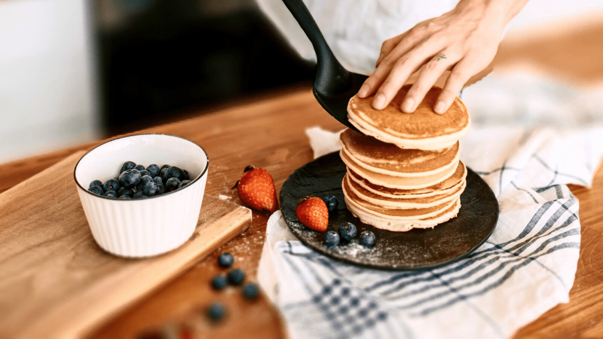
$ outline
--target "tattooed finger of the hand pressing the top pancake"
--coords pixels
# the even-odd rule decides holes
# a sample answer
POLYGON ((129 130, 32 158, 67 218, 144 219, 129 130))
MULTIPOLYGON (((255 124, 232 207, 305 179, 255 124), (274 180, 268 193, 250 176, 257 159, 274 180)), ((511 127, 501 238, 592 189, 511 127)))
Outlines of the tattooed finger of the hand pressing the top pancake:
POLYGON ((425 94, 434 86, 435 81, 458 62, 458 57, 453 58, 448 52, 443 51, 435 55, 428 63, 423 66, 417 81, 412 84, 406 93, 406 97, 400 105, 400 110, 405 113, 412 113, 417 109, 418 104, 423 101, 425 94))

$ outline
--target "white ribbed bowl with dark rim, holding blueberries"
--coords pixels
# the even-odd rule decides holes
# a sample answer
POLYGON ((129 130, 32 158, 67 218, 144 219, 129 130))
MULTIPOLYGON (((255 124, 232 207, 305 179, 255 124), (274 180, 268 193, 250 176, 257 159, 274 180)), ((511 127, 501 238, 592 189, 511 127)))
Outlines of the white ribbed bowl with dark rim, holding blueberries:
POLYGON ((74 179, 90 230, 109 253, 130 258, 155 256, 182 245, 195 230, 203 201, 207 153, 194 142, 170 135, 133 135, 99 145, 75 165, 74 179), (88 191, 90 182, 119 174, 126 161, 187 170, 191 183, 154 197, 122 200, 88 191))

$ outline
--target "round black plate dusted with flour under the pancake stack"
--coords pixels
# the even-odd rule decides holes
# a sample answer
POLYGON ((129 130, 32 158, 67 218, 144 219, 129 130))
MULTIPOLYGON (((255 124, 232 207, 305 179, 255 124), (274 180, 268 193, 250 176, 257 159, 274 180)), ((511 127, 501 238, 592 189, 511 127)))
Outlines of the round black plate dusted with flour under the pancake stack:
POLYGON ((461 195, 461 209, 456 218, 433 229, 392 232, 361 223, 346 208, 341 181, 346 165, 339 153, 329 153, 301 166, 283 184, 280 208, 289 229, 306 246, 334 259, 365 267, 386 270, 420 270, 450 264, 469 255, 494 231, 498 220, 498 201, 494 192, 475 172, 467 168, 467 188, 461 195), (358 234, 370 230, 376 236, 371 249, 358 243, 358 236, 348 244, 328 248, 323 234, 303 226, 295 215, 297 200, 306 195, 335 195, 336 211, 329 213, 329 230, 339 229, 344 221, 353 223, 358 234))

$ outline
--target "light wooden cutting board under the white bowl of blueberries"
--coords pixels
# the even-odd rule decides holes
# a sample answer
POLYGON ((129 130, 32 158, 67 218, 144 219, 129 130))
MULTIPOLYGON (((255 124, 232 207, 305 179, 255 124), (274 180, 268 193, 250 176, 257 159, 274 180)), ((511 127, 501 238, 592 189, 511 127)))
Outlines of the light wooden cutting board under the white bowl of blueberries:
POLYGON ((78 338, 243 232, 251 211, 209 195, 197 229, 150 259, 104 252, 73 169, 83 151, 0 194, 0 338, 78 338))

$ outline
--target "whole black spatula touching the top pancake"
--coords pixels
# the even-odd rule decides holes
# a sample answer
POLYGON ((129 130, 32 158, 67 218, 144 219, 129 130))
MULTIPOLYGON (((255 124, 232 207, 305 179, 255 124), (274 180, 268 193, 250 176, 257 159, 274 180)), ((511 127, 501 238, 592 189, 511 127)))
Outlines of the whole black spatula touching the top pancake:
POLYGON ((358 131, 347 119, 347 103, 364 83, 367 75, 346 71, 324 40, 323 33, 314 21, 308 7, 301 0, 283 0, 301 29, 312 42, 317 56, 314 97, 335 119, 347 127, 358 131))

